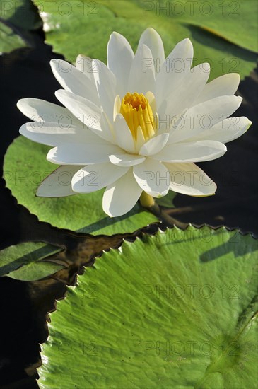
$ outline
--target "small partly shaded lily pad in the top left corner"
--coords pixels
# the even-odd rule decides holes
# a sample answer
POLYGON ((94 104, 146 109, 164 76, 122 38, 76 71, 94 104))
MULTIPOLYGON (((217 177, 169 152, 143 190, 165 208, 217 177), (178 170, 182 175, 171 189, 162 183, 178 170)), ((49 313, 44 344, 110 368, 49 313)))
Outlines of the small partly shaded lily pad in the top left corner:
POLYGON ((11 52, 21 47, 31 47, 31 30, 42 25, 37 8, 30 0, 1 1, 0 52, 11 52))

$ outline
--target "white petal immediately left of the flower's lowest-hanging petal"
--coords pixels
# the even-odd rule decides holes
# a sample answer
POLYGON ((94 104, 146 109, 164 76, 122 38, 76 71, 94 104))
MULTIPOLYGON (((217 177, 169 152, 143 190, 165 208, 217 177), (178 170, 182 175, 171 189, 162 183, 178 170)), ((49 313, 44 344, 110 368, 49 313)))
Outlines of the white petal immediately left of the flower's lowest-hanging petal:
POLYGON ((112 163, 98 163, 78 170, 71 180, 74 192, 90 193, 102 189, 127 173, 129 168, 120 168, 112 163))

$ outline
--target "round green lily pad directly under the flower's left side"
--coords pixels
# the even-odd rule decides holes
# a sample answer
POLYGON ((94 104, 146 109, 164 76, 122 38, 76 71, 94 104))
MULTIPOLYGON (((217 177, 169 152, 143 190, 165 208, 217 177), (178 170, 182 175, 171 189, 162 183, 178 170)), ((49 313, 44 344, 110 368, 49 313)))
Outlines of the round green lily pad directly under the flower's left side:
POLYGON ((40 221, 94 235, 130 233, 158 221, 138 204, 128 214, 110 218, 102 210, 103 190, 69 197, 36 197, 40 182, 57 168, 46 160, 48 150, 48 146, 20 136, 9 146, 4 158, 6 185, 18 202, 40 221))

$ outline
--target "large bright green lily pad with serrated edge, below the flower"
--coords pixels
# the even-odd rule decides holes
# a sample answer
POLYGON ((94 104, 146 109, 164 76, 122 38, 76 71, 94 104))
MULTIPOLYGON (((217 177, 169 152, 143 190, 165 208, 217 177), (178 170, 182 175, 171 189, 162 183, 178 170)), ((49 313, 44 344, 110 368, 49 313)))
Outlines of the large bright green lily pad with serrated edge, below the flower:
POLYGON ((257 280, 237 231, 125 242, 57 302, 40 388, 257 388, 257 280))

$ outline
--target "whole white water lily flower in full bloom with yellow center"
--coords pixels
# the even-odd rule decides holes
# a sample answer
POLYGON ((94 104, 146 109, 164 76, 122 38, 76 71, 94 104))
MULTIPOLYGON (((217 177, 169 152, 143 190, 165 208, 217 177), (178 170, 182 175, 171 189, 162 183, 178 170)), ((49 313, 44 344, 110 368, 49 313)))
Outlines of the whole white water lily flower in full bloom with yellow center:
POLYGON ((209 196, 216 184, 195 162, 223 156, 224 143, 240 137, 251 122, 228 118, 240 106, 234 95, 238 74, 206 84, 209 64, 192 68, 189 39, 165 59, 153 28, 143 32, 134 54, 129 42, 112 33, 107 66, 79 55, 76 66, 54 59, 52 71, 64 89, 65 108, 35 98, 18 102, 31 120, 20 134, 54 146, 47 160, 61 165, 45 179, 37 196, 62 197, 106 187, 102 206, 110 216, 130 211, 142 193, 168 190, 209 196), (71 185, 59 177, 69 173, 71 185))

